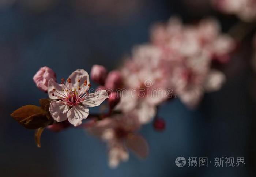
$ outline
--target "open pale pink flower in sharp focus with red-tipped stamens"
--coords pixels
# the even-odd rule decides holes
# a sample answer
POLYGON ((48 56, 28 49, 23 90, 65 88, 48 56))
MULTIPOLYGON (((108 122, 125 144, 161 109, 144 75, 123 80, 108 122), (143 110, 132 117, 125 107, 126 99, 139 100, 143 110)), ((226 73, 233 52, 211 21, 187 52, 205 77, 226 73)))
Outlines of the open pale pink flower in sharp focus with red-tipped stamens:
POLYGON ((74 126, 82 124, 89 114, 88 107, 99 106, 108 98, 106 90, 88 93, 89 87, 89 75, 83 69, 74 71, 66 82, 62 79, 61 84, 50 79, 48 95, 53 101, 49 110, 53 119, 57 122, 68 119, 74 126))

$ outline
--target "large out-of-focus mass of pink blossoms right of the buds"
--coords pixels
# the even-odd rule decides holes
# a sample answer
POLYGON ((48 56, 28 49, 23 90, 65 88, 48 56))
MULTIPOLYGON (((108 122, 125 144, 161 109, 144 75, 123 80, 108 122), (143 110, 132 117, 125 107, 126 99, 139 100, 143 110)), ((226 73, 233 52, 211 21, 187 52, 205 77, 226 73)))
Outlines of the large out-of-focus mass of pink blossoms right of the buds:
POLYGON ((133 96, 121 95, 116 109, 133 110, 144 124, 153 119, 156 107, 174 93, 189 108, 195 108, 205 91, 217 91, 225 81, 224 74, 213 70, 212 61, 228 62, 235 46, 234 39, 221 33, 214 18, 183 25, 175 17, 167 24, 154 25, 151 43, 135 47, 121 67, 123 87, 133 96), (138 88, 145 91, 134 92, 138 88), (162 93, 172 89, 173 93, 154 92, 159 89, 162 93))

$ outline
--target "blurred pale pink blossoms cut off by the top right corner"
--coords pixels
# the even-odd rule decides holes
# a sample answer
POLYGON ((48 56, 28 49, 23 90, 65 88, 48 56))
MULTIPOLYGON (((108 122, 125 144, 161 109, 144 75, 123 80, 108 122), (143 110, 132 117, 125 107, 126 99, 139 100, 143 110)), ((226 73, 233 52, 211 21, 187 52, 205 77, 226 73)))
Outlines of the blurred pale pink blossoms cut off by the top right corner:
POLYGON ((212 4, 226 14, 236 14, 245 22, 256 20, 255 0, 212 0, 212 4))

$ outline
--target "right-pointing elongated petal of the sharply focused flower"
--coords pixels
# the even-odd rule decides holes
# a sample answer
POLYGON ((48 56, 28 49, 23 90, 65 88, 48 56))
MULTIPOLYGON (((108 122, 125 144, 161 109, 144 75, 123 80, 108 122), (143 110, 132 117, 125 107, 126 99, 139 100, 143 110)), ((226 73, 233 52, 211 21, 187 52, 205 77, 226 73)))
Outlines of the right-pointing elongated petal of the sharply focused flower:
POLYGON ((88 94, 82 104, 86 107, 99 106, 105 99, 108 98, 108 93, 106 90, 100 90, 95 93, 88 94))

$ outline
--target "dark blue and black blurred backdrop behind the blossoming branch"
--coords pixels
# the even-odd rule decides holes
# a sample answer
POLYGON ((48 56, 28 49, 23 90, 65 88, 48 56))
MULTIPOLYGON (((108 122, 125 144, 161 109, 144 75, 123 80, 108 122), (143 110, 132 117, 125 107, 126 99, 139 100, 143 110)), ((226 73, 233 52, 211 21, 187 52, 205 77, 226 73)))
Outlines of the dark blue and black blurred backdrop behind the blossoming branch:
MULTIPOLYGON (((152 124, 141 133, 150 146, 144 161, 131 154, 117 169, 107 165, 105 144, 83 129, 44 131, 42 148, 34 131, 10 114, 46 98, 32 77, 42 66, 67 78, 93 64, 118 68, 132 46, 149 41, 154 22, 179 15, 194 23, 216 16, 223 31, 237 19, 219 14, 207 0, 0 0, 0 174, 3 177, 247 177, 255 176, 255 74, 250 67, 251 36, 222 69, 227 83, 207 94, 198 109, 188 110, 176 99, 160 109, 166 129, 152 124), (183 167, 185 157, 244 157, 244 167, 183 167)), ((93 85, 95 86, 95 85, 93 85)), ((97 112, 97 109, 91 112, 97 112)))

